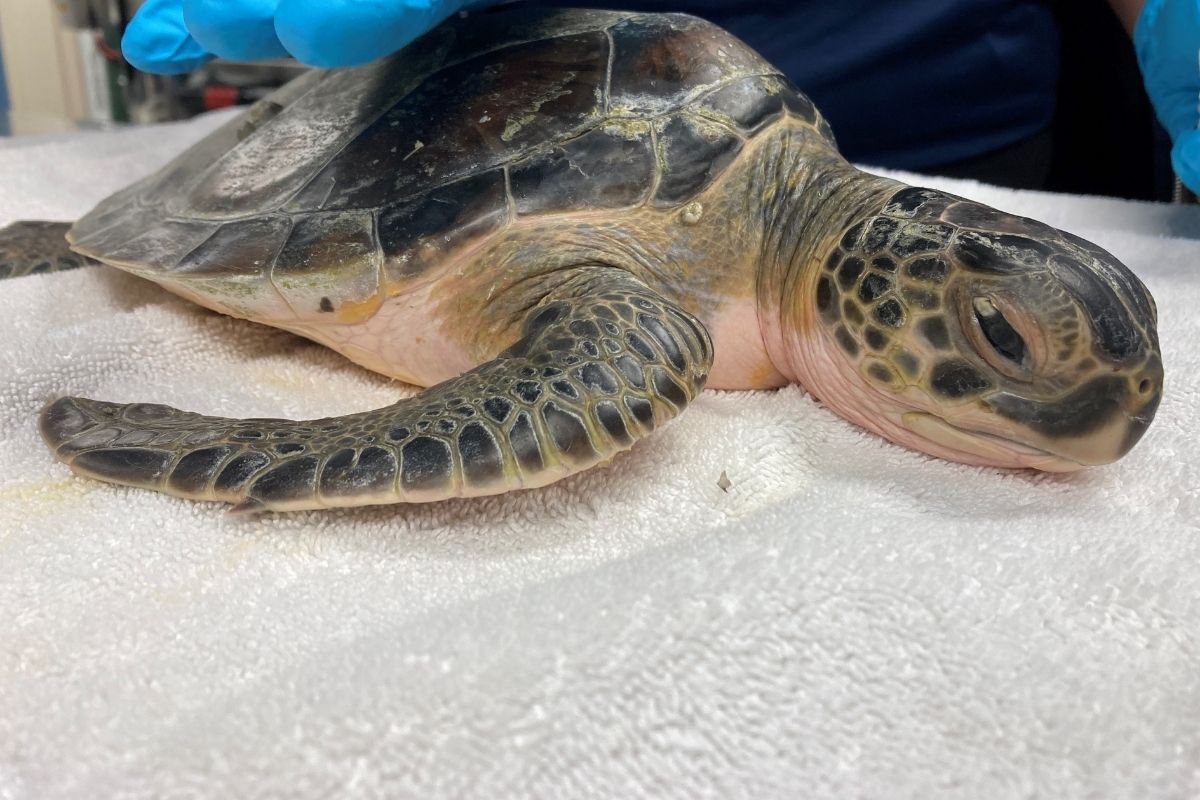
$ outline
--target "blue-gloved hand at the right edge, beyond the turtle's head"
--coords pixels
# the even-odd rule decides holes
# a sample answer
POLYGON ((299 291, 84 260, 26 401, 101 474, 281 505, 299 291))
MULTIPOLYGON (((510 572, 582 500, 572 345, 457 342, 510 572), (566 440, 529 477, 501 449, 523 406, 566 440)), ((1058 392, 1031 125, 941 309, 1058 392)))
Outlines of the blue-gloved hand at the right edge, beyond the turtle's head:
POLYGON ((1175 174, 1200 193, 1200 0, 1146 0, 1133 43, 1146 91, 1175 143, 1175 174))

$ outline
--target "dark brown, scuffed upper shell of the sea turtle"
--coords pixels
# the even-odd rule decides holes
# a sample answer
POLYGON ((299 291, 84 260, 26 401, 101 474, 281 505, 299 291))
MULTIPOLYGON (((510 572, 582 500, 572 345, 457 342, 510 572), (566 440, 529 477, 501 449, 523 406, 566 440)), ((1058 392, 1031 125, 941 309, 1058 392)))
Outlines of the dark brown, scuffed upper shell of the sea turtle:
POLYGON ((829 137, 778 70, 694 17, 473 13, 289 84, 72 240, 230 313, 319 317, 521 217, 684 205, 788 114, 829 137))

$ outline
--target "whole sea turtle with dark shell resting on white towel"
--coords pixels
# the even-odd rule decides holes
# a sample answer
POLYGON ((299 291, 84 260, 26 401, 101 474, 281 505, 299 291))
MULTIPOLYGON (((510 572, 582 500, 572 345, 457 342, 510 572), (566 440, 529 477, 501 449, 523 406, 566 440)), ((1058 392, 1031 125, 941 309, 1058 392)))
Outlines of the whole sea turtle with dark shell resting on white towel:
MULTIPOLYGON (((10 261, 48 263, 17 233, 10 261)), ((706 384, 798 381, 902 445, 1073 470, 1126 453, 1162 390, 1153 300, 1112 255, 856 169, 778 70, 680 14, 452 19, 298 78, 67 239, 428 386, 307 421, 43 410, 80 475, 235 510, 544 486, 706 384)))

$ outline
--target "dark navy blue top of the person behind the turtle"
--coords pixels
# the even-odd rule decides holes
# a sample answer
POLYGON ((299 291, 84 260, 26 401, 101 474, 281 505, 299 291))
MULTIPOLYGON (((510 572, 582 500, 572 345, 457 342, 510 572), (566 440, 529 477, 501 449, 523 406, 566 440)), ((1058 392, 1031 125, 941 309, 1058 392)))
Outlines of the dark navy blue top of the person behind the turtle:
POLYGON ((574 0, 682 11, 730 30, 782 70, 846 157, 929 169, 1050 125, 1058 35, 1036 0, 574 0))

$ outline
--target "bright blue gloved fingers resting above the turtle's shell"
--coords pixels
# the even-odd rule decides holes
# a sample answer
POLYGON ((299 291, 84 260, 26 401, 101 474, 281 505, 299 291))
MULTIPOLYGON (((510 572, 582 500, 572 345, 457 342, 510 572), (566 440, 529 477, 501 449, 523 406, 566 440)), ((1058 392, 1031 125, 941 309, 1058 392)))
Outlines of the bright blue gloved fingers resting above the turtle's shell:
POLYGON ((144 72, 188 72, 214 55, 294 55, 319 67, 394 53, 460 8, 487 0, 148 0, 121 41, 144 72))

